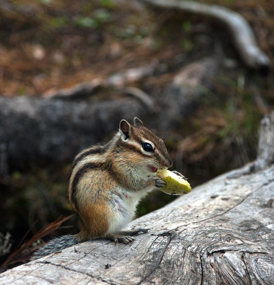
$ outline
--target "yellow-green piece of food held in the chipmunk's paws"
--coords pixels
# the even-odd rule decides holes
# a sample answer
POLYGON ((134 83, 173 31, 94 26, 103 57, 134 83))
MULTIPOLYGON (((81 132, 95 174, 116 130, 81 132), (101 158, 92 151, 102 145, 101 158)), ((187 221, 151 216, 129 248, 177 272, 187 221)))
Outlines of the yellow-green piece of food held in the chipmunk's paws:
POLYGON ((167 170, 167 168, 160 168, 156 172, 156 176, 160 177, 167 186, 159 188, 169 195, 184 195, 191 191, 191 186, 187 180, 178 176, 177 174, 167 170))

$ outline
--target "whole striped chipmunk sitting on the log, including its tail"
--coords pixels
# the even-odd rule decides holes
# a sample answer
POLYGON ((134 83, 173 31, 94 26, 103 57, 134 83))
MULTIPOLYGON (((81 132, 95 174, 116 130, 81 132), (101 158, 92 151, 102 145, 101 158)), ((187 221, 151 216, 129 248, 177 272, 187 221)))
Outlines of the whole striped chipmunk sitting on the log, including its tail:
POLYGON ((171 165, 164 142, 142 121, 134 118, 130 125, 122 120, 111 141, 83 150, 72 164, 69 201, 81 219, 81 231, 52 239, 32 259, 98 238, 129 244, 132 235, 147 233, 148 229, 122 229, 134 218, 138 202, 165 186, 156 171, 171 165))

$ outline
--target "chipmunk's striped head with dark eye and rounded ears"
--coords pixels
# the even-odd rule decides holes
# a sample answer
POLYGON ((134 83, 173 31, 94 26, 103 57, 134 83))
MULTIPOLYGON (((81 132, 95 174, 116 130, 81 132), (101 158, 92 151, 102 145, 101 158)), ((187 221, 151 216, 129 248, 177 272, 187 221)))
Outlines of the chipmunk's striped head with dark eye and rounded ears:
POLYGON ((133 125, 126 120, 120 122, 120 145, 128 151, 129 160, 148 172, 154 173, 159 168, 172 166, 164 142, 144 127, 137 117, 133 125))

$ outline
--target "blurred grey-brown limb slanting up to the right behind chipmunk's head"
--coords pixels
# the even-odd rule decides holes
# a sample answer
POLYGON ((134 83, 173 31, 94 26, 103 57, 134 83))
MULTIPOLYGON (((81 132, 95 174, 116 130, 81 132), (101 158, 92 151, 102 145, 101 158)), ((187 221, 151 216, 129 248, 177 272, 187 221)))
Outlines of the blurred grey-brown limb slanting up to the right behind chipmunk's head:
POLYGON ((173 81, 160 94, 161 117, 156 121, 163 130, 169 126, 177 128, 200 104, 201 97, 212 88, 212 79, 219 70, 215 58, 203 58, 187 64, 179 70, 173 81), (168 114, 168 115, 166 115, 168 114))

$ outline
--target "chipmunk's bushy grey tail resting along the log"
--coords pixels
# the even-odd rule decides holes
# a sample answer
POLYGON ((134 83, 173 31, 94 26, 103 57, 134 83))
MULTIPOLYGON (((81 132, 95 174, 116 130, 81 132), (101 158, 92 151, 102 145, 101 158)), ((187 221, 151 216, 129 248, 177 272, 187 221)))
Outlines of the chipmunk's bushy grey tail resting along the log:
POLYGON ((40 247, 32 256, 31 260, 35 260, 40 257, 44 257, 58 251, 61 251, 67 247, 77 245, 83 242, 77 235, 63 235, 56 237, 40 247))

